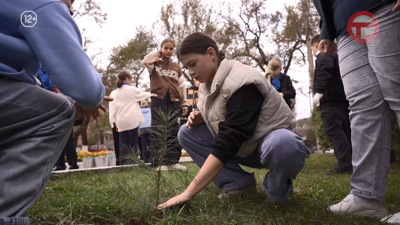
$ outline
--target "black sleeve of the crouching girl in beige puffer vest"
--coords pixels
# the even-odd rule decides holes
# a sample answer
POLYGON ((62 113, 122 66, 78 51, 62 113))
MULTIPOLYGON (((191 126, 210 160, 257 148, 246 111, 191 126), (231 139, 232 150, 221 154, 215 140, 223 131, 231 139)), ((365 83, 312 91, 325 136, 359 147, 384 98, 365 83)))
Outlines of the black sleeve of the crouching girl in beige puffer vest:
POLYGON ((218 135, 211 152, 224 165, 236 153, 243 142, 254 135, 264 96, 254 84, 242 86, 226 102, 225 121, 218 124, 218 135))

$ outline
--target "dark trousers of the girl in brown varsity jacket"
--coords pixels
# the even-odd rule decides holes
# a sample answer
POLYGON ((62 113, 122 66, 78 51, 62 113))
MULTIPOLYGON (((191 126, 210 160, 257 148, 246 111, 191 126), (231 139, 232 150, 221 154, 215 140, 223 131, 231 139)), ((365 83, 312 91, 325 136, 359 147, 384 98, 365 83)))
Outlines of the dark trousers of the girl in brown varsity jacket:
MULTIPOLYGON (((159 125, 160 123, 160 118, 158 117, 158 114, 156 112, 156 108, 162 109, 164 112, 167 112, 168 109, 170 109, 171 113, 174 113, 175 111, 179 111, 178 115, 174 118, 175 123, 172 126, 173 132, 172 135, 170 136, 169 139, 173 139, 178 137, 178 117, 181 116, 182 110, 180 108, 180 103, 179 102, 172 102, 170 98, 169 91, 167 91, 166 96, 164 99, 160 99, 157 97, 151 97, 151 119, 152 119, 152 127, 159 125)), ((154 136, 151 136, 151 146, 158 146, 158 143, 153 143, 153 140, 155 139, 154 136)), ((165 153, 164 155, 164 160, 161 162, 162 165, 170 164, 170 163, 178 163, 180 159, 182 149, 179 147, 178 144, 178 139, 176 139, 174 143, 174 147, 168 152, 165 153)), ((150 149, 150 163, 153 165, 158 164, 156 160, 154 160, 154 149, 150 149)))

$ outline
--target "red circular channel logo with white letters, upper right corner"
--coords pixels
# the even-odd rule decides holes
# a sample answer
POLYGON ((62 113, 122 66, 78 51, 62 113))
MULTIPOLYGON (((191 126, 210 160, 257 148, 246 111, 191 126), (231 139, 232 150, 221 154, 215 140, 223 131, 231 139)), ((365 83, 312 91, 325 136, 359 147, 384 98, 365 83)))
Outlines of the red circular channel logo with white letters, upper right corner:
POLYGON ((347 22, 347 32, 356 42, 368 43, 378 35, 378 19, 367 11, 356 12, 347 22))

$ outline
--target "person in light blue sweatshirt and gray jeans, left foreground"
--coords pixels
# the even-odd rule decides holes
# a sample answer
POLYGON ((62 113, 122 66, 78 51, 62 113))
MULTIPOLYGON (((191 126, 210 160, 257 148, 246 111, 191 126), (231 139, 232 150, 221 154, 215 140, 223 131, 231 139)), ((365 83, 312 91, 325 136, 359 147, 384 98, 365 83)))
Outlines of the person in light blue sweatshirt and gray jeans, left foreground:
POLYGON ((72 18, 71 0, 0 2, 0 225, 28 225, 75 119, 105 111, 105 88, 72 18), (34 26, 21 13, 35 10, 34 26), (40 65, 72 104, 40 88, 40 65))

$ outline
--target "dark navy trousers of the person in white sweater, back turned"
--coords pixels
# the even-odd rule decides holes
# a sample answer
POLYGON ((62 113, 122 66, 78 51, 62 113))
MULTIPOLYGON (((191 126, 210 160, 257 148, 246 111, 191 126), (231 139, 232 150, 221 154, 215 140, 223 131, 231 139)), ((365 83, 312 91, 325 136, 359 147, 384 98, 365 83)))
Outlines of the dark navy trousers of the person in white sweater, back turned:
POLYGON ((119 165, 124 165, 124 163, 127 163, 128 161, 126 159, 128 155, 137 154, 139 144, 139 127, 128 131, 120 131, 118 133, 120 136, 119 165))

